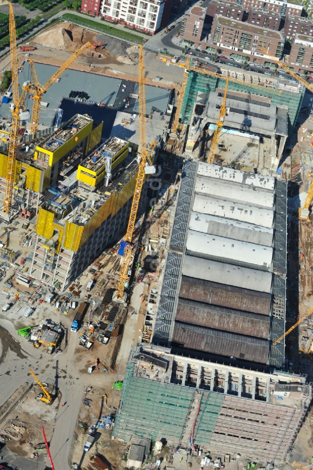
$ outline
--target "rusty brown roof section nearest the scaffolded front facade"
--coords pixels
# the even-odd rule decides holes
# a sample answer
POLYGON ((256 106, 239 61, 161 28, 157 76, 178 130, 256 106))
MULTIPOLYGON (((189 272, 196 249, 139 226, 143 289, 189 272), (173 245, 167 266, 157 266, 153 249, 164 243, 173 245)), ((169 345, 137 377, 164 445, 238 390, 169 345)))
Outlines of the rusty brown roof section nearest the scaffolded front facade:
POLYGON ((180 321, 175 323, 172 344, 261 364, 267 363, 269 353, 269 341, 265 339, 227 333, 180 321))

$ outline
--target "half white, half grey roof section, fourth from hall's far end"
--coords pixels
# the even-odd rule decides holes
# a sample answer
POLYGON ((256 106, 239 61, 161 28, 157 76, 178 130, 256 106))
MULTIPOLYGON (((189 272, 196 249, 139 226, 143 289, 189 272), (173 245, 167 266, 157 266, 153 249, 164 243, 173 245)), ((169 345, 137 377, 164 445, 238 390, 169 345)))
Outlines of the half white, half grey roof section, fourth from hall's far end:
POLYGON ((189 228, 197 232, 224 236, 241 240, 242 242, 257 243, 258 245, 273 245, 273 228, 247 224, 239 220, 223 219, 209 214, 192 212, 189 228))

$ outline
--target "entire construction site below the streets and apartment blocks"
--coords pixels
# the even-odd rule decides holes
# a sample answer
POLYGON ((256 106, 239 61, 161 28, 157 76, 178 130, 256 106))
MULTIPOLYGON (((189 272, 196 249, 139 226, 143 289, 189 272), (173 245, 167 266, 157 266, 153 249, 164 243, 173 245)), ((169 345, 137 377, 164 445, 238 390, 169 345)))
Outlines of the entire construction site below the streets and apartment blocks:
POLYGON ((189 56, 162 59, 179 89, 148 85, 142 46, 119 59, 136 78, 87 73, 108 56, 90 31, 61 31, 57 67, 17 54, 9 14, 3 468, 303 470, 313 87, 189 56))

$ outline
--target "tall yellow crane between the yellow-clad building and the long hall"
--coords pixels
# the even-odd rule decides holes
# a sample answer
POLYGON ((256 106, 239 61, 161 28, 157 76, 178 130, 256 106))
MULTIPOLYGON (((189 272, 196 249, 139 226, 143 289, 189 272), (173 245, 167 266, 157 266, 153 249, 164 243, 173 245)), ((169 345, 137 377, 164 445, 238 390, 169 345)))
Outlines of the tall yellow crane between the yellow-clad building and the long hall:
MULTIPOLYGON (((146 149, 145 141, 145 71, 144 71, 144 50, 139 45, 139 61, 138 61, 138 82, 139 82, 139 157, 138 174, 136 179, 135 192, 133 202, 131 204, 128 227, 126 231, 125 241, 131 243, 135 230, 136 217, 140 202, 141 191, 144 186, 145 167, 153 161, 153 154, 157 143, 153 141, 149 148, 146 149)), ((124 294, 125 283, 128 280, 128 270, 131 263, 132 249, 128 244, 124 249, 123 260, 120 268, 120 282, 117 289, 117 297, 122 299, 124 294)))

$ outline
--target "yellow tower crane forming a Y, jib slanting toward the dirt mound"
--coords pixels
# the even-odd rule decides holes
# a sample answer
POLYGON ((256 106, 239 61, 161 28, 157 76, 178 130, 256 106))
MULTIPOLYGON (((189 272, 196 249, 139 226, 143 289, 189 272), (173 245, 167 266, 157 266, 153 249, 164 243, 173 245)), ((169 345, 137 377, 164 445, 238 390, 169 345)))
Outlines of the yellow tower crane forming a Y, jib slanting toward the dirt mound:
POLYGON ((72 63, 79 57, 84 50, 86 50, 88 47, 91 47, 90 42, 86 42, 83 46, 81 46, 77 51, 74 52, 73 55, 69 59, 67 59, 64 64, 61 65, 61 67, 48 79, 48 81, 44 85, 40 85, 37 79, 37 73, 35 69, 35 64, 32 60, 29 61, 30 67, 31 67, 31 74, 32 74, 32 83, 29 84, 28 90, 30 93, 33 94, 33 107, 32 107, 32 121, 31 121, 31 134, 35 134, 38 131, 38 125, 39 125, 39 116, 40 116, 40 105, 41 105, 41 99, 42 95, 45 94, 48 90, 48 88, 56 82, 58 78, 61 77, 61 75, 65 72, 66 69, 72 65, 72 63))

